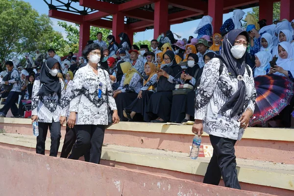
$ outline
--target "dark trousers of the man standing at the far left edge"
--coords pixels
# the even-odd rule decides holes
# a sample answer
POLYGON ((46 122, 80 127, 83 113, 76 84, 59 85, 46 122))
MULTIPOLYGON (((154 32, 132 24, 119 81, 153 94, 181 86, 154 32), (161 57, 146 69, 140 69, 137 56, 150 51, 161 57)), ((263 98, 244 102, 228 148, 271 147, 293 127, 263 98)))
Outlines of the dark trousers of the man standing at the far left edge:
POLYGON ((19 99, 19 92, 10 91, 8 97, 6 98, 5 105, 0 109, 0 114, 6 116, 9 109, 11 109, 11 113, 13 116, 19 115, 18 108, 16 106, 16 102, 19 99))

